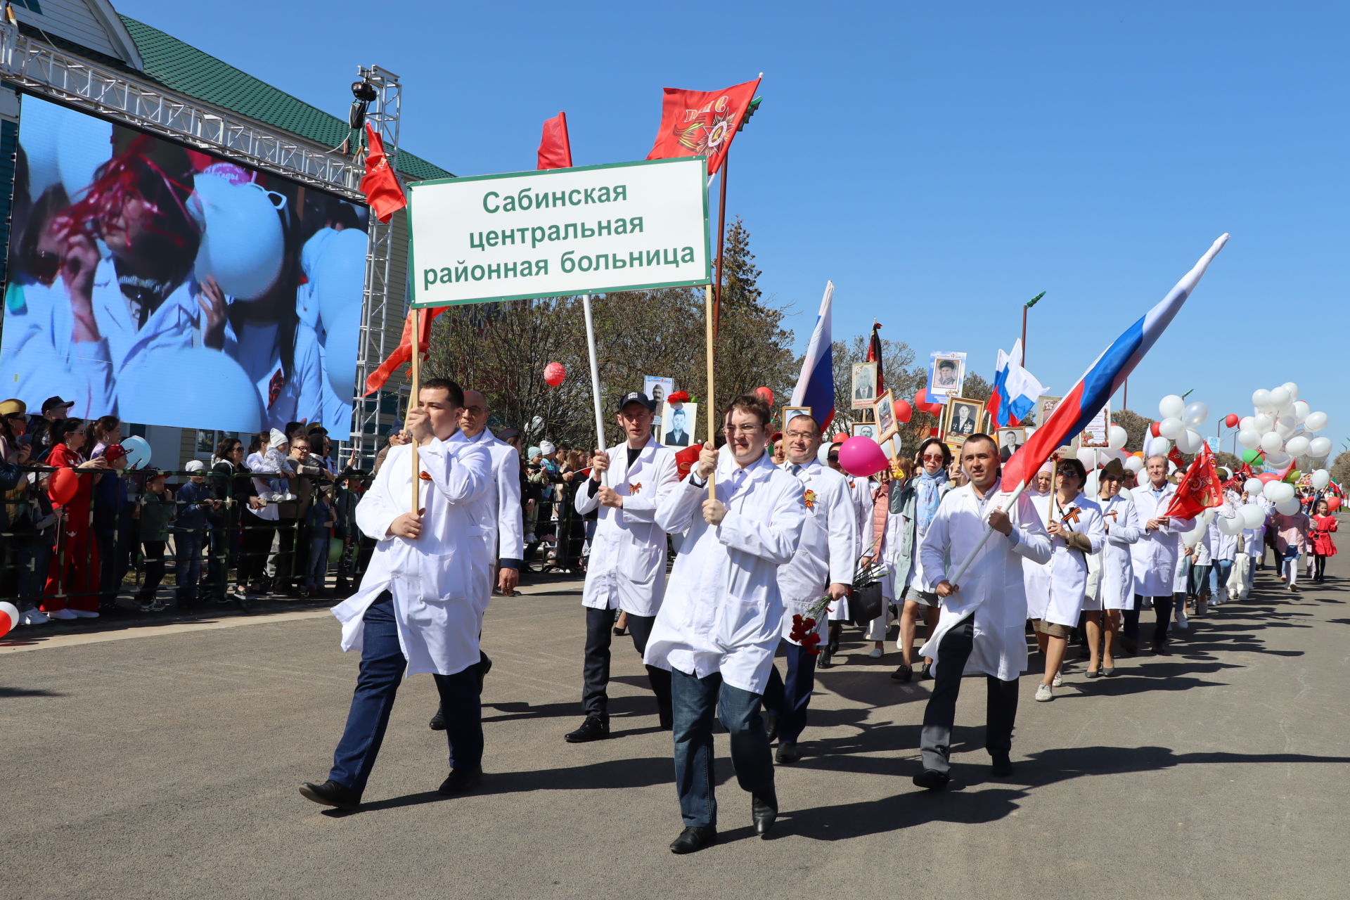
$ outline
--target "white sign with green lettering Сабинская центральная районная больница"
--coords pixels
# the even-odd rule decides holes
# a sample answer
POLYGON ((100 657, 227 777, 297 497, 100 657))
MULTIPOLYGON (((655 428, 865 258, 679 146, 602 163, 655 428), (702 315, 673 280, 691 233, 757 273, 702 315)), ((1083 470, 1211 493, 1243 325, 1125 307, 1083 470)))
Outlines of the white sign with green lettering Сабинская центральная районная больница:
POLYGON ((414 306, 706 285, 702 157, 409 186, 414 306))

